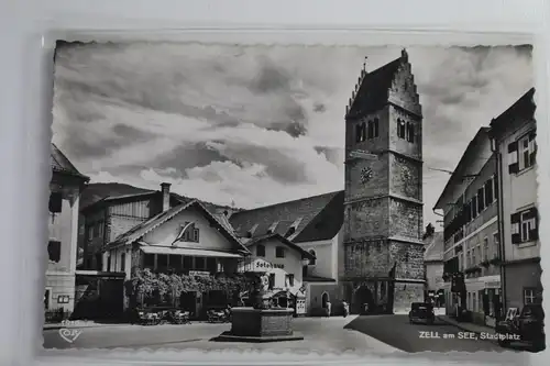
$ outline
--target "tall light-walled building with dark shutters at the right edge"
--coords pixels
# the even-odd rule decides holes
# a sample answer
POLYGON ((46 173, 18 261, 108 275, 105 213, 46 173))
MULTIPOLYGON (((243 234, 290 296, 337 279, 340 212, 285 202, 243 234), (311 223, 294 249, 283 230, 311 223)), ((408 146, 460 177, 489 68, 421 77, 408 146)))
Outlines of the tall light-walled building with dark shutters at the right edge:
POLYGON ((542 301, 535 89, 491 122, 498 156, 505 309, 542 301))

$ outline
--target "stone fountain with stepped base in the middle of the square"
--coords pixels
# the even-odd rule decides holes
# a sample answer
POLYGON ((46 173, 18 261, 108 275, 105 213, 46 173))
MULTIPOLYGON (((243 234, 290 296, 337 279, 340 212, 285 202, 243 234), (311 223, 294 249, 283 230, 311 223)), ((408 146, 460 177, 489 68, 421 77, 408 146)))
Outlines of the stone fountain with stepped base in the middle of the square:
POLYGON ((231 309, 231 330, 219 342, 282 342, 304 340, 293 331, 294 309, 271 307, 268 277, 263 274, 251 292, 252 307, 231 309))

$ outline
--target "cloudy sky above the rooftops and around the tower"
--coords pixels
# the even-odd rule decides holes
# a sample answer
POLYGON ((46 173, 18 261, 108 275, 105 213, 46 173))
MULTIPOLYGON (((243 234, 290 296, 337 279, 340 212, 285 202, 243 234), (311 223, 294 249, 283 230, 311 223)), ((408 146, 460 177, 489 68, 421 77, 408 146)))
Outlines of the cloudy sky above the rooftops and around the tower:
MULTIPOLYGON (((425 223, 477 129, 532 87, 529 48, 409 47, 425 223)), ((91 182, 252 208, 343 188, 345 104, 397 47, 85 45, 56 58, 54 143, 91 182)))

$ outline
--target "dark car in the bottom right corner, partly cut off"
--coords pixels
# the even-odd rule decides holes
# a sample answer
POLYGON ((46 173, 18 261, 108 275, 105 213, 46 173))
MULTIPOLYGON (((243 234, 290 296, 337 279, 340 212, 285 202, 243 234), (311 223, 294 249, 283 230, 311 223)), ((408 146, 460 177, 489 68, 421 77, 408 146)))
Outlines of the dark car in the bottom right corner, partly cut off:
POLYGON ((519 314, 497 322, 495 331, 501 346, 508 346, 512 342, 519 342, 536 350, 544 350, 544 311, 542 306, 524 306, 519 314), (519 341, 516 341, 517 339, 519 341))

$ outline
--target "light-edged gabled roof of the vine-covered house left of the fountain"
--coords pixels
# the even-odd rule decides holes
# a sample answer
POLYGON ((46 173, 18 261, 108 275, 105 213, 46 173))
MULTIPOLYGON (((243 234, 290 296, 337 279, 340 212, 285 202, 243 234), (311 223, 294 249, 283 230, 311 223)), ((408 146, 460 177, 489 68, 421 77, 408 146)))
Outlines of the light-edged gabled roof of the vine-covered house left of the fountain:
POLYGON ((135 225, 134 228, 130 229, 122 235, 118 236, 113 242, 111 242, 109 245, 119 245, 119 244, 131 244, 136 241, 139 241, 141 237, 143 237, 145 234, 148 232, 155 230, 166 221, 173 219, 175 215, 177 215, 179 212, 183 212, 190 207, 198 208, 199 210, 202 211, 205 217, 216 226, 221 229, 221 234, 224 235, 229 241, 231 241, 235 246, 239 247, 240 251, 250 253, 249 249, 241 243, 241 241, 234 236, 232 231, 228 230, 219 220, 216 218, 210 211, 208 211, 201 202, 198 200, 191 200, 187 203, 182 203, 179 206, 176 206, 169 210, 166 210, 164 212, 158 213, 157 215, 154 215, 153 218, 135 225))

